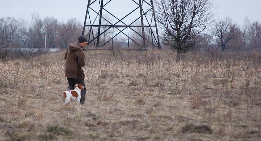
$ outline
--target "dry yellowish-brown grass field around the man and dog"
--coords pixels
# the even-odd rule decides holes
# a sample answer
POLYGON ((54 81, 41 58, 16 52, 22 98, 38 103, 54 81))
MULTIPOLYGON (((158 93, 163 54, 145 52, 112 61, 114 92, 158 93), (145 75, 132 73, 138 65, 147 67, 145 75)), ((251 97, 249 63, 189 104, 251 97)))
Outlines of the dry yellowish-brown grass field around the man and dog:
POLYGON ((0 62, 0 140, 261 140, 261 53, 86 51, 63 106, 65 51, 0 62))

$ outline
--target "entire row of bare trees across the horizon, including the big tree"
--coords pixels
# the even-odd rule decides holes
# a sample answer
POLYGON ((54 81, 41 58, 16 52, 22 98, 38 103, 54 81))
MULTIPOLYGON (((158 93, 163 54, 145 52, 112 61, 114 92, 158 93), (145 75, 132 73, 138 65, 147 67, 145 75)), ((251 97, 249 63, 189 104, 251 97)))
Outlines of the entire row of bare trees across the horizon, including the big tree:
MULTIPOLYGON (((213 21, 215 13, 212 7, 211 0, 158 1, 156 15, 161 29, 162 43, 171 46, 178 53, 197 47, 221 51, 261 49, 259 21, 251 22, 246 17, 241 26, 229 17, 213 21), (207 29, 210 29, 209 32, 205 32, 207 29)), ((66 49, 70 42, 75 42, 81 35, 83 25, 76 18, 59 22, 54 17, 44 19, 39 17, 39 13, 33 12, 30 22, 12 17, 0 18, 0 46, 44 48, 46 36, 47 48, 66 49)), ((112 31, 109 30, 101 40, 105 42, 110 34, 112 31)), ((135 35, 133 38, 141 40, 135 35)))

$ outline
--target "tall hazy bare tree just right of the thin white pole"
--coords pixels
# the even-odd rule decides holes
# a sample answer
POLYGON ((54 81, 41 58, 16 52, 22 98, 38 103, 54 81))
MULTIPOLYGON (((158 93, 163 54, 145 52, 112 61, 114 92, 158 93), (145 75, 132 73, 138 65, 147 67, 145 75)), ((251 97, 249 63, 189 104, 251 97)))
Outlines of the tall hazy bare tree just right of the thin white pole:
POLYGON ((46 34, 48 47, 55 48, 55 38, 58 35, 58 22, 54 17, 46 17, 43 20, 43 30, 46 34))

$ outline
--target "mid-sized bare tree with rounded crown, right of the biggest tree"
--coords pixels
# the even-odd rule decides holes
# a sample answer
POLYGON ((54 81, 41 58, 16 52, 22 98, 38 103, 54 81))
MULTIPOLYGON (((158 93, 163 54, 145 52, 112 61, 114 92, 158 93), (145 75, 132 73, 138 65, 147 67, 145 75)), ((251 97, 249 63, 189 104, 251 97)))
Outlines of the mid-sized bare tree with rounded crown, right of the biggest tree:
POLYGON ((237 29, 236 24, 232 23, 229 17, 215 22, 212 33, 218 37, 218 45, 221 47, 221 51, 226 49, 226 43, 229 42, 229 40, 235 38, 235 31, 237 29))

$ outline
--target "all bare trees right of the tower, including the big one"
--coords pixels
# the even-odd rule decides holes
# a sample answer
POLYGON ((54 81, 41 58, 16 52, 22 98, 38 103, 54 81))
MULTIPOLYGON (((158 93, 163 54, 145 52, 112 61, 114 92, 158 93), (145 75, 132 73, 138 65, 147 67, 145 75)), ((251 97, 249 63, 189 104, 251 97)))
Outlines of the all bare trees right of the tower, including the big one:
POLYGON ((249 51, 261 48, 261 23, 245 18, 241 27, 231 18, 213 20, 216 14, 212 0, 158 0, 157 22, 163 44, 180 54, 204 47, 207 52, 249 51), (207 32, 207 30, 209 32, 207 32))

